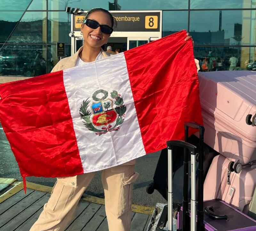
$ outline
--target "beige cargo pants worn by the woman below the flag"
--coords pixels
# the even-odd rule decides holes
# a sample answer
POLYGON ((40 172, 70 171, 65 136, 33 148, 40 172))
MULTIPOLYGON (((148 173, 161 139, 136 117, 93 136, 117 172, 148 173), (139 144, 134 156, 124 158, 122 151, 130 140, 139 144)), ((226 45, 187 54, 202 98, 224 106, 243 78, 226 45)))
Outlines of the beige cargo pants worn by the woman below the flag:
MULTIPOLYGON (((79 199, 94 175, 95 172, 57 178, 50 199, 30 231, 65 230, 79 199)), ((134 172, 134 165, 120 165, 102 170, 101 181, 109 231, 130 230, 132 188, 138 175, 134 172)))

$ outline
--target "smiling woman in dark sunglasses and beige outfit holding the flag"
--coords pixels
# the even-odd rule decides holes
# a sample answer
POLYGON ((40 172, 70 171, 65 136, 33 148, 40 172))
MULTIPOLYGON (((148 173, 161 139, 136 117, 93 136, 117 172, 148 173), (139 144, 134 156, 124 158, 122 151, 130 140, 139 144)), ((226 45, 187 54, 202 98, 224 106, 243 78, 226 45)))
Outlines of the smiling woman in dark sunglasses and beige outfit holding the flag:
MULTIPOLYGON (((107 10, 94 8, 88 11, 81 27, 84 46, 71 57, 61 59, 52 72, 110 56, 101 49, 101 46, 107 43, 113 26, 114 18, 107 10)), ((189 38, 191 36, 186 37, 185 40, 189 38)), ((135 162, 136 160, 132 160, 105 169, 101 173, 109 231, 130 230, 132 186, 139 175, 134 171, 135 162)), ((48 203, 44 205, 43 212, 30 231, 64 230, 94 175, 95 172, 57 178, 48 203)))

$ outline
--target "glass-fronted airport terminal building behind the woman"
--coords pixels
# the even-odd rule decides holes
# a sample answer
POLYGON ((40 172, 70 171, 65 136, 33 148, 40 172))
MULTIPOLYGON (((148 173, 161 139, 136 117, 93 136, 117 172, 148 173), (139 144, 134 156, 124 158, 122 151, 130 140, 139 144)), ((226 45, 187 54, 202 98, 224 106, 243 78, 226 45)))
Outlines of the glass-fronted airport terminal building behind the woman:
POLYGON ((93 7, 117 20, 104 49, 125 51, 185 29, 201 67, 208 64, 204 71, 229 70, 231 57, 236 70, 256 60, 256 0, 2 0, 0 82, 49 73, 74 54, 83 45, 83 17, 93 7))

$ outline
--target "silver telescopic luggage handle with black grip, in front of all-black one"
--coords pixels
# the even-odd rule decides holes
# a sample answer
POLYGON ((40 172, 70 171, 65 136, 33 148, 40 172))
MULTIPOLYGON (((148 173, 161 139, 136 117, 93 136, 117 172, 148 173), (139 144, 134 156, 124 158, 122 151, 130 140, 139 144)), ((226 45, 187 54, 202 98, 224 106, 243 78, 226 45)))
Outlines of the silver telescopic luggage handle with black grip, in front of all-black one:
MULTIPOLYGON (((181 140, 167 141, 168 149, 168 230, 172 231, 172 149, 174 146, 189 150, 191 154, 191 220, 190 230, 196 230, 196 146, 181 140)), ((186 153, 186 152, 185 152, 186 153)), ((185 216, 185 214, 183 215, 185 216)), ((187 229, 188 230, 188 229, 187 229)), ((186 230, 186 231, 187 231, 186 230)))

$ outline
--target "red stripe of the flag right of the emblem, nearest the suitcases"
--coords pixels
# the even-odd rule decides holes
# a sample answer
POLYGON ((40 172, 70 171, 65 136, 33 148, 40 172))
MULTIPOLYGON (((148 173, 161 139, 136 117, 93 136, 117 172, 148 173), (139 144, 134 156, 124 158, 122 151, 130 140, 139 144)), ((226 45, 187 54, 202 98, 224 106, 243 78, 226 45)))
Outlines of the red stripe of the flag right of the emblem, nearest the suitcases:
POLYGON ((184 122, 203 124, 193 45, 185 37, 181 31, 124 52, 146 153, 184 140, 184 122))

